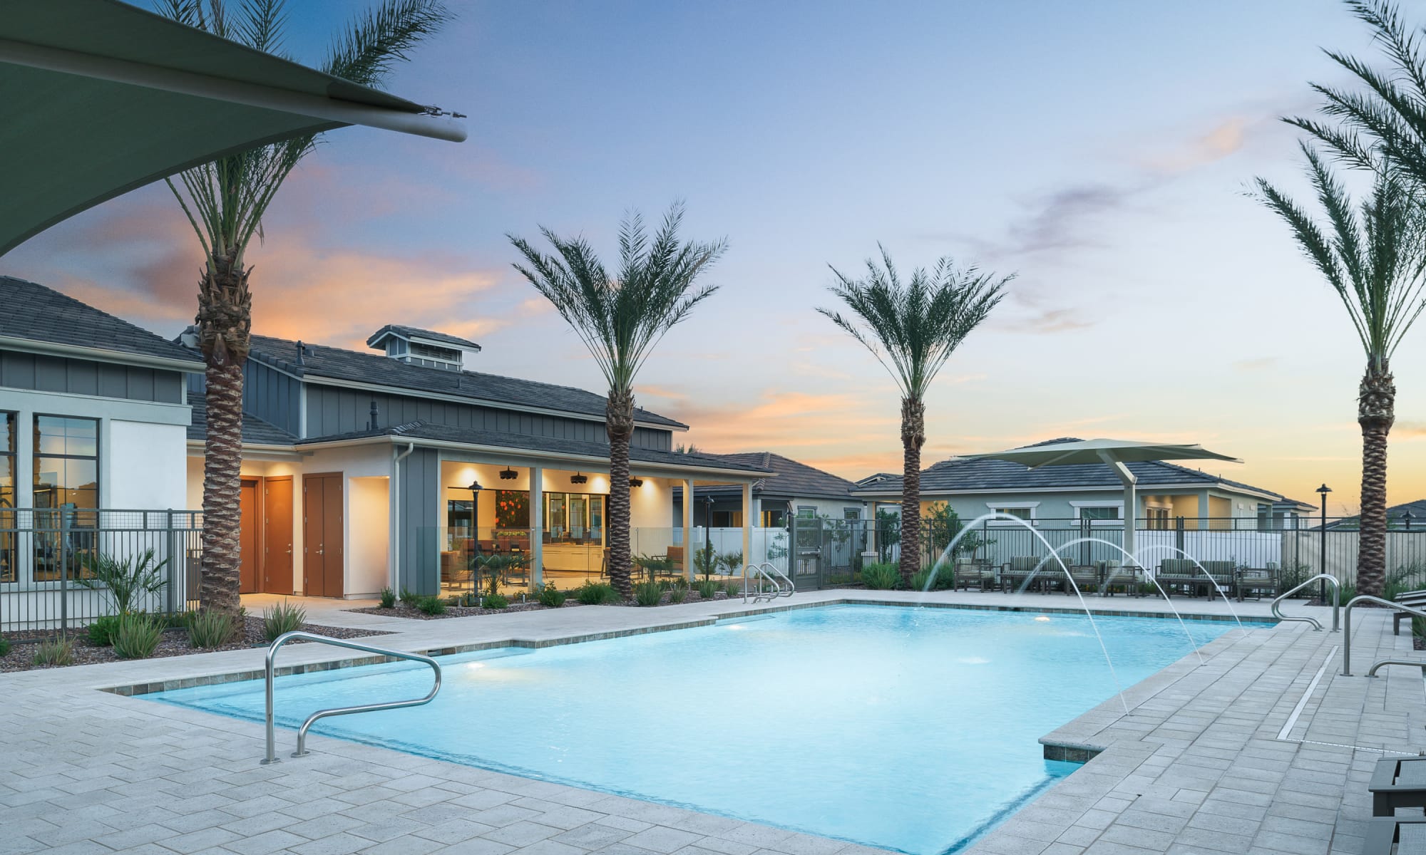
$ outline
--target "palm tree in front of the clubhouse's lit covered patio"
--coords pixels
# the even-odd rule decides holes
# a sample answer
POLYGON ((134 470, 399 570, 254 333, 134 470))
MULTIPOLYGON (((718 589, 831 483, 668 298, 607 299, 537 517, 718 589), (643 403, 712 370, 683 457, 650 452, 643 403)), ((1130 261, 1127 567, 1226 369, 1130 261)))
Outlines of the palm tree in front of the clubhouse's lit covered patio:
POLYGON ((674 202, 653 239, 635 212, 619 225, 619 278, 610 278, 583 237, 540 234, 555 247, 545 255, 506 235, 525 256, 515 264, 536 291, 573 328, 609 383, 605 430, 609 433, 609 580, 633 594, 629 580, 629 439, 633 436, 633 379, 655 345, 716 285, 697 279, 727 249, 726 241, 679 242, 683 205, 674 202), (526 266, 528 265, 528 266, 526 266))

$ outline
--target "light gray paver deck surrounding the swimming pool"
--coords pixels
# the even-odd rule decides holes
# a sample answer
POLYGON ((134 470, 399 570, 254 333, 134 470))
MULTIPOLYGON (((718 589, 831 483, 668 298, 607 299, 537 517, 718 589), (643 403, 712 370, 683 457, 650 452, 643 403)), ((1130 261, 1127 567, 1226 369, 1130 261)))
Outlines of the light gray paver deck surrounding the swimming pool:
MULTIPOLYGON (((777 607, 833 601, 1071 608, 1060 594, 816 591, 777 607)), ((1091 600, 1097 610, 1162 613, 1162 600, 1091 600)), ((391 631, 401 650, 556 643, 707 621, 761 607, 742 601, 665 608, 578 607, 416 621, 304 600, 312 623, 391 631)), ((1175 600, 1226 617, 1219 600, 1175 600)), ((1233 603, 1266 617, 1266 603, 1233 603)), ((250 610, 254 604, 250 604, 250 610)), ((1329 623, 1323 608, 1291 606, 1329 623)), ((1382 751, 1426 751, 1426 681, 1409 636, 1356 610, 1353 677, 1340 633, 1302 623, 1228 631, 1085 715, 1047 734, 1061 750, 1099 751, 1011 817, 974 855, 1358 855, 1382 751)), ((342 740, 258 765, 258 724, 111 691, 261 668, 262 650, 0 674, 0 855, 20 852, 265 852, 449 855, 867 855, 881 852, 680 808, 532 781, 342 740)), ((281 664, 351 658, 305 644, 281 664)), ((291 751, 291 731, 279 750, 291 751)), ((954 794, 948 794, 954 798, 954 794)))

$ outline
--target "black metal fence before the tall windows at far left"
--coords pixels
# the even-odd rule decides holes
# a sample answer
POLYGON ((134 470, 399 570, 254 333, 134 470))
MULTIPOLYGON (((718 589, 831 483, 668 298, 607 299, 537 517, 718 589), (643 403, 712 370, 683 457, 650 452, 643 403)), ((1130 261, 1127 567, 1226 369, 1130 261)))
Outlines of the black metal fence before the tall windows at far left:
POLYGON ((0 509, 0 631, 68 633, 124 606, 197 607, 201 553, 198 512, 0 509))

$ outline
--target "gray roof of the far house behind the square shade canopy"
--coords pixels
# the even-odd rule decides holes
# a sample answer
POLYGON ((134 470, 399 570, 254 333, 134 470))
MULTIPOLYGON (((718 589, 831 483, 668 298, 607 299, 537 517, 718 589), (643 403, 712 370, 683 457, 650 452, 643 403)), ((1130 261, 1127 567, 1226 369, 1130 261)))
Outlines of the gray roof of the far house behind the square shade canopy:
MULTIPOLYGON (((1060 442, 1078 442, 1074 437, 1051 439, 1048 445, 1060 442)), ((1031 447, 1031 446, 1025 446, 1031 447)), ((1281 493, 1229 480, 1216 475, 1208 475, 1198 469, 1166 463, 1164 460, 1145 463, 1125 463, 1129 472, 1138 479, 1139 489, 1147 487, 1194 487, 1222 484, 1241 490, 1251 490, 1263 496, 1291 502, 1281 493)), ((941 460, 928 469, 921 470, 921 494, 935 496, 941 493, 992 493, 997 490, 1122 490, 1124 482, 1107 463, 1087 463, 1071 466, 1041 466, 1030 469, 1021 463, 1008 460, 967 460, 951 457, 941 460)), ((898 496, 901 493, 901 476, 884 475, 878 480, 863 479, 853 487, 854 496, 898 496)))

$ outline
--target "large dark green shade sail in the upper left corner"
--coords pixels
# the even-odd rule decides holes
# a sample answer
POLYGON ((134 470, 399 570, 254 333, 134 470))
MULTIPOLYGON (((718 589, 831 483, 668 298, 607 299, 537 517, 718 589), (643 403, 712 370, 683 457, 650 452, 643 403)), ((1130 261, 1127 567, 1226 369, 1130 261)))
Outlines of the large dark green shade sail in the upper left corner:
POLYGON ((118 0, 0 0, 0 255, 225 154, 364 124, 462 123, 118 0))

